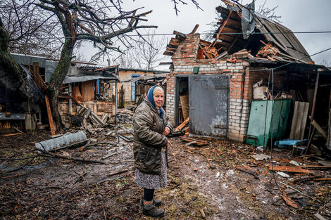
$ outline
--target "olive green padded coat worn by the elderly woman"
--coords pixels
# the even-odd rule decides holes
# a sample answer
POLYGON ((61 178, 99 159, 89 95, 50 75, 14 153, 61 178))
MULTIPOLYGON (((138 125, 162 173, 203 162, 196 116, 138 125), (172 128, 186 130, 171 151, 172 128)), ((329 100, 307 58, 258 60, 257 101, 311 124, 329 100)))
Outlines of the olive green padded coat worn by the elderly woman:
POLYGON ((161 174, 161 148, 168 143, 168 138, 163 136, 165 127, 169 127, 171 134, 173 127, 168 117, 164 114, 161 119, 158 110, 145 98, 135 110, 133 119, 133 153, 139 172, 161 174))

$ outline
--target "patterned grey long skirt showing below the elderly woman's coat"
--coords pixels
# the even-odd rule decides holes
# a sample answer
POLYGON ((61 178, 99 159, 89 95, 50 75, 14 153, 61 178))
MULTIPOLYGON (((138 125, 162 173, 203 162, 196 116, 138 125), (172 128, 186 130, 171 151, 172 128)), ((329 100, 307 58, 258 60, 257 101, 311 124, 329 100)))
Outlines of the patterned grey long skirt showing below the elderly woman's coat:
POLYGON ((136 183, 140 188, 159 189, 168 185, 165 152, 161 152, 161 174, 144 174, 136 169, 136 183))

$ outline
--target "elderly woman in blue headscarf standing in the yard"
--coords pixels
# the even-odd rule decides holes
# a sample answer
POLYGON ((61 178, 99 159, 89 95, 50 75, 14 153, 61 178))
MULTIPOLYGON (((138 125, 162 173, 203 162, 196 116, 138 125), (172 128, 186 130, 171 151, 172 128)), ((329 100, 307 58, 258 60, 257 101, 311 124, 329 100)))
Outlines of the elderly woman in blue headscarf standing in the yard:
POLYGON ((142 213, 148 216, 163 216, 164 210, 156 206, 161 200, 154 199, 154 190, 167 186, 168 134, 173 127, 162 108, 164 91, 161 86, 149 89, 144 101, 134 115, 134 143, 136 183, 144 188, 142 213))

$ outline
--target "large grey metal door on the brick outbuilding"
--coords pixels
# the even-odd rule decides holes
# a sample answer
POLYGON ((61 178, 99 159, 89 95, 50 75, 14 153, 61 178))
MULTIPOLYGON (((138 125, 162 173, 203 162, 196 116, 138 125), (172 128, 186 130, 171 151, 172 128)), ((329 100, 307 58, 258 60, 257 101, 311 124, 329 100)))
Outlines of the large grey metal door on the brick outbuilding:
POLYGON ((227 138, 230 76, 189 76, 189 134, 227 138))

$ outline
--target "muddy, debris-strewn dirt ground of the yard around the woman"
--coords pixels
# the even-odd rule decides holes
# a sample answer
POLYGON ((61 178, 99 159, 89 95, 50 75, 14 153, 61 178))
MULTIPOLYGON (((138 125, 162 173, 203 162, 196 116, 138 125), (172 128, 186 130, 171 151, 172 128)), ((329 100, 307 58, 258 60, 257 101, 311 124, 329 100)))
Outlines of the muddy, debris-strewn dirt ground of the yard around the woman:
MULTIPOLYGON (((77 131, 77 130, 75 130, 77 131)), ((75 132, 71 131, 71 132, 75 132)), ((0 218, 1 219, 152 219, 142 215, 139 201, 142 190, 135 185, 132 142, 106 136, 108 131, 127 133, 129 124, 107 128, 89 138, 92 143, 115 143, 81 148, 65 148, 58 155, 70 155, 105 164, 36 157, 29 160, 4 160, 35 155, 35 143, 50 138, 47 131, 0 137, 0 218), (95 139, 95 140, 93 140, 95 139), (111 155, 101 160, 105 155, 111 155), (123 171, 120 174, 116 172, 123 171), (114 175, 112 175, 114 174, 114 175)), ((289 174, 289 178, 267 172, 273 165, 316 164, 311 157, 292 158, 290 150, 273 151, 273 159, 257 161, 251 155, 256 147, 231 141, 206 140, 194 147, 171 138, 168 153, 168 186, 156 191, 165 209, 162 219, 314 219, 319 213, 331 219, 330 181, 294 179, 308 175, 289 174), (251 169, 256 175, 237 167, 251 169), (275 183, 277 181, 277 185, 275 183), (292 192, 292 186, 301 193, 292 192), (286 190, 297 208, 281 198, 286 190), (203 217, 203 214, 205 215, 203 217)), ((258 152, 261 153, 261 152, 258 152)), ((270 155, 270 150, 264 152, 270 155)), ((312 169, 315 175, 330 178, 327 169, 312 169)))

